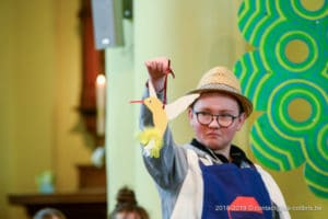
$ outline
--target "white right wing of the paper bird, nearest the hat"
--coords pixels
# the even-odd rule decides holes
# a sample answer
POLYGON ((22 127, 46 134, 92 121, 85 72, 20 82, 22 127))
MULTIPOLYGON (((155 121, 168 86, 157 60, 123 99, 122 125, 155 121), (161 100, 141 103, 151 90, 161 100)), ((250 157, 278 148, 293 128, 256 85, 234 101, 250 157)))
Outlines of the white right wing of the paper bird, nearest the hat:
POLYGON ((198 99, 199 93, 184 95, 173 103, 165 105, 165 113, 168 120, 174 119, 180 113, 183 113, 196 99, 198 99))

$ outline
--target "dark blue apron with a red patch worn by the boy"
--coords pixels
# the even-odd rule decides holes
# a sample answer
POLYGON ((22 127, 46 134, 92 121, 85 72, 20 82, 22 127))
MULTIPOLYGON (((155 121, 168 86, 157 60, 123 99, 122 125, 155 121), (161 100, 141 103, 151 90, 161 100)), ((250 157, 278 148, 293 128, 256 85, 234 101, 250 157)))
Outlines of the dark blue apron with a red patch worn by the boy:
POLYGON ((202 219, 272 219, 272 205, 255 168, 204 165, 202 219))

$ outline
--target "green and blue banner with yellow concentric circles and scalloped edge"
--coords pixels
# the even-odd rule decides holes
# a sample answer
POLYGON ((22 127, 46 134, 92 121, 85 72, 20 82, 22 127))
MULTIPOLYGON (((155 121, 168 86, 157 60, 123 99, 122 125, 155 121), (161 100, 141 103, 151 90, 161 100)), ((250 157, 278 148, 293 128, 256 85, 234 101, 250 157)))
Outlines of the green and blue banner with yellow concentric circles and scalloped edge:
POLYGON ((255 47, 234 71, 255 110, 250 145, 267 168, 305 163, 311 191, 328 198, 328 0, 244 0, 238 26, 255 47))

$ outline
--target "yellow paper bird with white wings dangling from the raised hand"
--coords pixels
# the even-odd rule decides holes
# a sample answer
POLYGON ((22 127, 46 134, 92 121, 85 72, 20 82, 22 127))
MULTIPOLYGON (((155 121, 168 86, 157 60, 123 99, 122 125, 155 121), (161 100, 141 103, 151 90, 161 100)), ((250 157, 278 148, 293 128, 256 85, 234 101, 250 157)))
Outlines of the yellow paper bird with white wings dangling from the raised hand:
POLYGON ((154 127, 143 129, 139 135, 139 140, 144 146, 145 155, 160 158, 160 151, 163 147, 163 136, 168 120, 174 119, 184 112, 199 94, 184 95, 175 102, 164 105, 157 99, 151 80, 149 80, 149 97, 142 101, 131 101, 131 103, 143 103, 152 113, 154 127))

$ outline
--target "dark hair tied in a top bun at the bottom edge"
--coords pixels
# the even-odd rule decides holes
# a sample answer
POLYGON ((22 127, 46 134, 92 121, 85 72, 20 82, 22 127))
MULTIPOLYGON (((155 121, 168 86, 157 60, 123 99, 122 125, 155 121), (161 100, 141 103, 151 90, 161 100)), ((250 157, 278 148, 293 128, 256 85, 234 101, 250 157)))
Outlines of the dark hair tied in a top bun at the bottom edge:
POLYGON ((116 195, 116 206, 109 218, 116 219, 119 212, 134 212, 140 219, 149 219, 147 210, 138 205, 134 192, 127 186, 120 188, 116 195))

